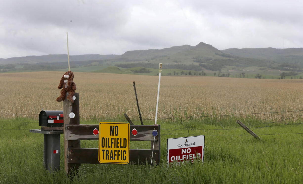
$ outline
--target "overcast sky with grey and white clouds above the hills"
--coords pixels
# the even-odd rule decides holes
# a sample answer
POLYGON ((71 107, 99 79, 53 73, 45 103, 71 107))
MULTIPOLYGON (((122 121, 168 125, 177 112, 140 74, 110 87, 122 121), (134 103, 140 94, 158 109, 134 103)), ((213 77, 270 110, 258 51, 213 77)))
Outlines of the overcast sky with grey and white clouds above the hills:
POLYGON ((303 47, 298 0, 0 0, 0 58, 197 45, 303 47))

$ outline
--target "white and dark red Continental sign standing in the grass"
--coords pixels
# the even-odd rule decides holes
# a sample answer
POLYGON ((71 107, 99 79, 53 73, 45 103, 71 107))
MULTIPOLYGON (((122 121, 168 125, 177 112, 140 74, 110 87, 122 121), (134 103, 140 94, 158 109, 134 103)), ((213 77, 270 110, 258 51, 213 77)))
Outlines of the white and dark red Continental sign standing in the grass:
POLYGON ((204 158, 204 136, 167 139, 167 163, 193 163, 204 158))

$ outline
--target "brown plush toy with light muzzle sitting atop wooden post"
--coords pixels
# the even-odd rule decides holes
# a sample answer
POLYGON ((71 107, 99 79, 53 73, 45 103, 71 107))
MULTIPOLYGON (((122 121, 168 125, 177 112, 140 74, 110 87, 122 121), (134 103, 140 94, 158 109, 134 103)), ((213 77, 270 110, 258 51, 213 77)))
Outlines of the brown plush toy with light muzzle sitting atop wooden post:
POLYGON ((75 94, 76 84, 73 82, 74 73, 72 71, 67 71, 61 78, 58 89, 62 90, 60 92, 60 97, 57 98, 57 102, 61 102, 65 99, 66 93, 68 93, 67 99, 74 103, 73 96, 75 94))

